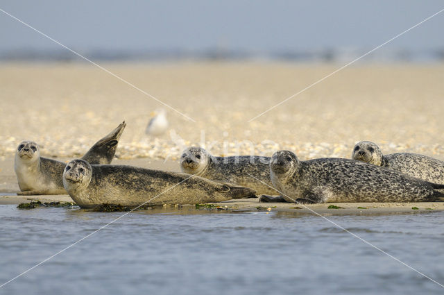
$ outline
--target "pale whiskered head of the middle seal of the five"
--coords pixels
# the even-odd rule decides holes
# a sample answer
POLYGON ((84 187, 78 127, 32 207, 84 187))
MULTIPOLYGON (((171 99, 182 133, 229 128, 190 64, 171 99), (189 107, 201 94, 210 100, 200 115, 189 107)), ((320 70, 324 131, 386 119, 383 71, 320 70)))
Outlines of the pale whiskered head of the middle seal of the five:
POLYGON ((210 165, 211 155, 201 147, 191 146, 180 157, 180 169, 187 174, 200 175, 210 165))

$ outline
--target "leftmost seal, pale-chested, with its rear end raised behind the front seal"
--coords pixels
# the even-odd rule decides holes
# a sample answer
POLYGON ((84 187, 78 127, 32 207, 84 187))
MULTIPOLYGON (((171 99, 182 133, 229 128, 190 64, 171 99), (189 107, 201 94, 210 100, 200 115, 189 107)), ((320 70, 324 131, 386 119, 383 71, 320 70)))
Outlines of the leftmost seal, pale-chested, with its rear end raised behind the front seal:
MULTIPOLYGON (((92 164, 110 164, 126 123, 96 142, 83 156, 92 164)), ((66 164, 57 160, 40 157, 38 144, 24 141, 17 147, 14 169, 22 192, 19 195, 66 194, 62 174, 66 164)))

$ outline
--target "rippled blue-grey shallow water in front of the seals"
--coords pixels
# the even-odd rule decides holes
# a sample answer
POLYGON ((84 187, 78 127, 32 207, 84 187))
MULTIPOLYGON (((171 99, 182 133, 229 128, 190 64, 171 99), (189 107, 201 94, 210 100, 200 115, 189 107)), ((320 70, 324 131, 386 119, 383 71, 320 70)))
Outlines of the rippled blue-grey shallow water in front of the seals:
MULTIPOLYGON (((123 212, 0 205, 0 285, 123 212)), ((444 212, 328 219, 444 284, 444 212)), ((0 294, 441 294, 321 217, 132 212, 0 294)))

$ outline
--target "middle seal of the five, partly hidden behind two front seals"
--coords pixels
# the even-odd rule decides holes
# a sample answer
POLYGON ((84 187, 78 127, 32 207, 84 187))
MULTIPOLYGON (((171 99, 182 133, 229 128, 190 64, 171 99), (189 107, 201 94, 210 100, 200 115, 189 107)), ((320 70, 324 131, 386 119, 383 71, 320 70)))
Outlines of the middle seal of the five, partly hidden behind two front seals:
POLYGON ((257 194, 275 194, 270 179, 270 157, 259 155, 237 155, 232 157, 214 157, 205 149, 191 146, 180 157, 180 169, 187 174, 194 174, 211 180, 234 183, 255 189, 257 194), (264 183, 256 181, 248 174, 264 183))

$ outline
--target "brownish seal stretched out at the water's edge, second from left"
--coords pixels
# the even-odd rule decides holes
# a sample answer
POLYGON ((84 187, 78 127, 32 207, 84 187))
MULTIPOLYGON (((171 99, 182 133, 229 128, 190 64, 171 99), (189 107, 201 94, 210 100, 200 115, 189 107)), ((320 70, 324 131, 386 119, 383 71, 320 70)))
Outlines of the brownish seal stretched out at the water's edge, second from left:
POLYGON ((185 173, 166 172, 123 165, 89 165, 72 160, 63 172, 63 185, 81 208, 112 204, 196 204, 242 199, 253 189, 185 173))

